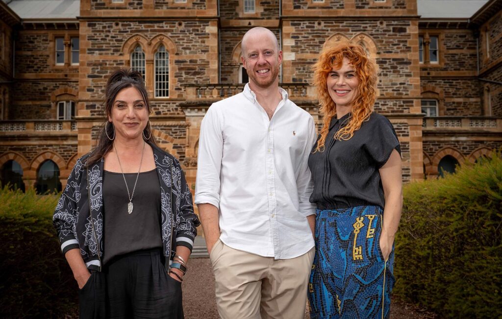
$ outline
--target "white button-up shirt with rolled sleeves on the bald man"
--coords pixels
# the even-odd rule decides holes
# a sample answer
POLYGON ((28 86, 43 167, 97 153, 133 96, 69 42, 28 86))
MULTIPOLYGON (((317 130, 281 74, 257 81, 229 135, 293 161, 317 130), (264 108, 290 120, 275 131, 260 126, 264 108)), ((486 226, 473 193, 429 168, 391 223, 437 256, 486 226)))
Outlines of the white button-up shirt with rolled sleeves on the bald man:
POLYGON ((314 246, 306 217, 315 214, 307 163, 315 128, 279 90, 283 98, 270 120, 249 84, 207 110, 195 203, 219 208, 220 240, 229 247, 288 259, 314 246))

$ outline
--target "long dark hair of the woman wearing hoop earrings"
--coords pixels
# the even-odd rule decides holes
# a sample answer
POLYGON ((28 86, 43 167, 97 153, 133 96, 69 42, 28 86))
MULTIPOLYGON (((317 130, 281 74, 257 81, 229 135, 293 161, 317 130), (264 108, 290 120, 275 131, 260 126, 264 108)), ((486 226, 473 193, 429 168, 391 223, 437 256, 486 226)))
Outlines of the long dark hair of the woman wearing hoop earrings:
MULTIPOLYGON (((141 73, 138 71, 133 71, 132 69, 120 69, 113 72, 106 82, 105 100, 102 107, 104 122, 99 128, 96 146, 94 146, 91 151, 91 155, 87 159, 88 166, 101 161, 101 158, 103 158, 104 155, 106 155, 111 150, 113 146, 113 140, 110 140, 108 136, 114 136, 115 133, 113 125, 107 125, 108 116, 111 114, 113 102, 115 101, 115 97, 117 96, 118 92, 129 87, 135 87, 140 92, 147 106, 148 113, 152 113, 150 101, 148 100, 147 89, 145 87, 145 80, 143 79, 141 73), (106 133, 108 133, 108 136, 106 135, 106 133)), ((150 136, 147 142, 153 145, 157 145, 155 137, 152 135, 151 128, 152 126, 149 120, 147 126, 143 130, 143 134, 144 136, 150 136)))

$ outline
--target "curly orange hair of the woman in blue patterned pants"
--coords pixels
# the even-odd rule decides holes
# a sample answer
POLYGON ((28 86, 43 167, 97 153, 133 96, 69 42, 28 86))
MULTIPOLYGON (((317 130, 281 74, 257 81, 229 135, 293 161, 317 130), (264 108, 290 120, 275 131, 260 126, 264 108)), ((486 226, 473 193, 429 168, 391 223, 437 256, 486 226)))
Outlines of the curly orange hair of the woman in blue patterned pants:
POLYGON ((328 93, 326 79, 329 72, 335 67, 340 69, 343 58, 347 58, 355 70, 359 79, 357 86, 358 94, 352 102, 350 119, 346 126, 336 132, 335 139, 347 140, 354 135, 354 131, 361 127, 363 121, 369 119, 373 112, 376 100, 376 83, 378 82, 378 67, 376 63, 366 56, 364 48, 348 42, 326 46, 321 51, 319 59, 312 67, 314 71, 314 83, 319 94, 320 113, 324 117, 321 129, 321 137, 317 142, 315 151, 322 151, 326 136, 328 135, 329 123, 336 115, 336 104, 328 93))

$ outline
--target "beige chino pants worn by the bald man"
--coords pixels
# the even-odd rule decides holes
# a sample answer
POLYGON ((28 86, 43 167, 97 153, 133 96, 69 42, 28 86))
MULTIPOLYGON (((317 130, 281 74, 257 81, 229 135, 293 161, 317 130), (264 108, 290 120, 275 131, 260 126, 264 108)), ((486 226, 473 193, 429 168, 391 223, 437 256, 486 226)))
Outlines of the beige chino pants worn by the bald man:
POLYGON ((314 252, 312 248, 296 258, 275 260, 230 248, 218 239, 209 257, 220 318, 304 318, 314 252))

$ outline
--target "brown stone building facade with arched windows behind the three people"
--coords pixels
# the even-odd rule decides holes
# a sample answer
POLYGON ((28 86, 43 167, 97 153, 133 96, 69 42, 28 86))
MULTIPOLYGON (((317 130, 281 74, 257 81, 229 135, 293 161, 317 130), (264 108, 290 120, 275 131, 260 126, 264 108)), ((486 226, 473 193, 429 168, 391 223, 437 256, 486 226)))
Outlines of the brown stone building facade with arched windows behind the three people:
POLYGON ((255 26, 277 35, 281 86, 318 123, 310 67, 329 42, 364 46, 380 68, 375 110, 399 135, 405 182, 502 145, 501 0, 456 19, 421 17, 417 0, 118 1, 74 0, 77 14, 40 17, 19 9, 23 0, 0 1, 3 181, 64 187, 103 124, 108 75, 134 67, 148 85, 153 133, 194 187, 201 119, 242 90, 240 39, 255 26))

